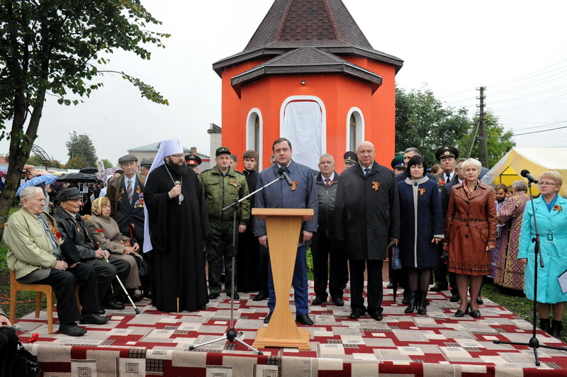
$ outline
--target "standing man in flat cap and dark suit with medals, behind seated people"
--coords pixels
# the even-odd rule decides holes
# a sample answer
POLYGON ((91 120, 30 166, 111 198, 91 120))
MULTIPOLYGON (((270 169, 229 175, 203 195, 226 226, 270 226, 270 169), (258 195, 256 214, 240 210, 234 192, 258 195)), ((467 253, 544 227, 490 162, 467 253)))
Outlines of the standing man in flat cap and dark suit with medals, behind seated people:
MULTIPOLYGON (((120 157, 118 164, 124 173, 113 179, 106 192, 106 197, 111 202, 111 217, 118 223, 120 233, 134 238, 140 245, 142 256, 150 264, 151 274, 150 254, 143 253, 141 248, 144 244, 144 184, 146 179, 137 172, 137 157, 133 154, 120 157)), ((150 278, 142 284, 145 295, 149 297, 150 278)))

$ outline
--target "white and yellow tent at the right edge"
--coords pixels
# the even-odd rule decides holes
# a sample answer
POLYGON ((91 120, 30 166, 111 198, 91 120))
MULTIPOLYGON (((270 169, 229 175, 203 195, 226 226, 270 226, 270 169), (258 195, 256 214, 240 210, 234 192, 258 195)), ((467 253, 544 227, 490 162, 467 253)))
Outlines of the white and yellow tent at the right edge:
MULTIPOLYGON (((565 180, 567 179, 567 148, 512 148, 483 176, 482 180, 485 184, 510 185, 518 179, 524 179, 520 176, 520 172, 524 169, 527 169, 536 178, 539 178, 544 171, 556 170, 565 180)), ((535 195, 539 191, 537 186, 534 188, 535 195)), ((567 182, 561 186, 559 194, 563 197, 567 196, 567 182)))

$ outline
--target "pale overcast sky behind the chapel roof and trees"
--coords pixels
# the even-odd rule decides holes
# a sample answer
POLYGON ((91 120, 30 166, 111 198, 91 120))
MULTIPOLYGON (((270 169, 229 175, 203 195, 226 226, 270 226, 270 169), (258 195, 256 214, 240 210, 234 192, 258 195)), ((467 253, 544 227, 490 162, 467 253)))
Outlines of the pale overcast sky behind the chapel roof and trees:
MULTIPOLYGON (((518 147, 567 147, 567 3, 564 1, 343 0, 375 50, 404 60, 403 89, 427 85, 449 106, 488 109, 512 129, 518 147), (549 132, 538 132, 561 128, 549 132), (533 133, 537 132, 537 133, 533 133)), ((154 85, 169 106, 141 99, 119 76, 79 106, 47 100, 36 144, 67 162, 69 133, 91 136, 99 158, 116 163, 133 147, 181 137, 209 153, 209 123, 222 126, 220 77, 213 62, 240 52, 271 0, 142 0, 172 34, 152 59, 116 53, 111 68, 154 85)), ((379 90, 379 89, 378 89, 379 90)), ((0 153, 8 142, 0 142, 0 153)))

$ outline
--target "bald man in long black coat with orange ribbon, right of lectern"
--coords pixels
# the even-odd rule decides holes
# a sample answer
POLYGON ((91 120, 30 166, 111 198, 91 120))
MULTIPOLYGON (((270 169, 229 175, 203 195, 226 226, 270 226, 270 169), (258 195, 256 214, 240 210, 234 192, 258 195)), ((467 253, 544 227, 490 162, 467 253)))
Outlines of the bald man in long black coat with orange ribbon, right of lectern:
POLYGON ((400 202, 390 169, 374 161, 371 142, 357 148, 359 166, 343 171, 337 187, 337 237, 345 240, 350 268, 350 317, 368 312, 382 320, 382 264, 390 241, 398 244, 400 202), (364 306, 364 270, 368 267, 368 308, 364 306))

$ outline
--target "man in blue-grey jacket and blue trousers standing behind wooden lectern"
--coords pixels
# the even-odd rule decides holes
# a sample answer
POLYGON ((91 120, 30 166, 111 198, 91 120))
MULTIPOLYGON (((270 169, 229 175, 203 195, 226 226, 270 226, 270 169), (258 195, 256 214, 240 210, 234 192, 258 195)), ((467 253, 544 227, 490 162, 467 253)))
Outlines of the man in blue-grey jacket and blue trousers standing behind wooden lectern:
MULTIPOLYGON (((288 186, 286 181, 278 181, 257 193, 255 206, 257 208, 313 208, 315 215, 313 220, 303 222, 301 233, 298 234, 298 249, 296 264, 293 270, 293 291, 296 302, 296 321, 303 325, 311 326, 313 321, 308 313, 308 282, 307 282, 307 245, 311 243, 313 232, 317 232, 318 224, 318 201, 315 188, 315 178, 309 167, 298 164, 291 160, 291 142, 280 137, 274 141, 271 149, 274 151, 276 163, 264 169, 258 176, 257 188, 260 188, 281 176, 281 171, 286 171, 289 179, 293 182, 288 186), (280 170, 282 169, 282 170, 280 170)), ((269 247, 266 236, 266 222, 254 220, 254 234, 262 246, 269 247)), ((269 315, 264 323, 269 323, 271 314, 276 305, 276 293, 274 291, 274 279, 271 274, 271 266, 268 270, 269 315)))

